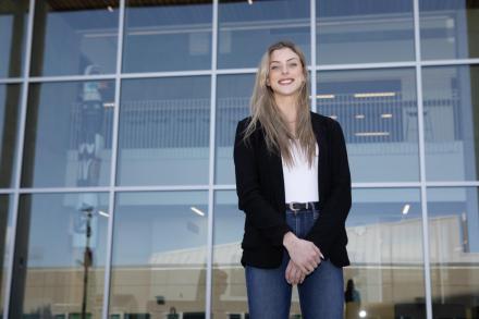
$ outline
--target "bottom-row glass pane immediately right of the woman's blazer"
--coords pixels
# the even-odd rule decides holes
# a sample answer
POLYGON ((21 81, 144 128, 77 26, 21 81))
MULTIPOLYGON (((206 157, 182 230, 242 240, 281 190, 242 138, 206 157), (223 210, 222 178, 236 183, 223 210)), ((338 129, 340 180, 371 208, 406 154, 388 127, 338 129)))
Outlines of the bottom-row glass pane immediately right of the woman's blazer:
POLYGON ((345 318, 426 318, 419 189, 355 189, 345 318))

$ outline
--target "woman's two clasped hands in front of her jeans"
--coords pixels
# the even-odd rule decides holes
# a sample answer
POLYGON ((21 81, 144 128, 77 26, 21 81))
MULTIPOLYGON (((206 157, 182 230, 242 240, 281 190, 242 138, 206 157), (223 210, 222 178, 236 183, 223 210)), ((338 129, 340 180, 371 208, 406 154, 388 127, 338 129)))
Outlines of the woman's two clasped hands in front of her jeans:
POLYGON ((311 242, 300 240, 288 232, 284 235, 283 245, 290 254, 285 278, 290 284, 303 283, 306 275, 310 274, 321 263, 324 256, 311 242))

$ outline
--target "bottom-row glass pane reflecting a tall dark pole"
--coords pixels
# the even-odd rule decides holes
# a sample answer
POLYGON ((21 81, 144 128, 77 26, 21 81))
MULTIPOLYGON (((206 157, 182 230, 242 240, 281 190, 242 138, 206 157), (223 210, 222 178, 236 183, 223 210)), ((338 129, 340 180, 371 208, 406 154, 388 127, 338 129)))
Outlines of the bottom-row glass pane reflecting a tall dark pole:
POLYGON ((10 318, 101 317, 109 216, 107 194, 21 195, 10 318))

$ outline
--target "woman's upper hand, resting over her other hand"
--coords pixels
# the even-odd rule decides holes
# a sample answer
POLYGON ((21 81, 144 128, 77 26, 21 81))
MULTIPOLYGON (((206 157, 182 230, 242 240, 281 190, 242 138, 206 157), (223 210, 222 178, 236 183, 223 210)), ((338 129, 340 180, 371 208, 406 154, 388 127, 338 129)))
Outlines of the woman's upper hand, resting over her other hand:
POLYGON ((283 238, 290 258, 306 274, 311 273, 324 258, 318 247, 311 242, 299 240, 292 232, 287 232, 283 238))

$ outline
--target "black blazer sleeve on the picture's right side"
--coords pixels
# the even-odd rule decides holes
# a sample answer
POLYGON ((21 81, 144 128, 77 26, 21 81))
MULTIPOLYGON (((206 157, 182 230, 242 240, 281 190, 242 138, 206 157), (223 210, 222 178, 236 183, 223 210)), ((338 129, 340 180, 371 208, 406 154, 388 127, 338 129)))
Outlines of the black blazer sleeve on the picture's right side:
POLYGON ((343 233, 352 205, 346 143, 340 124, 336 121, 331 123, 331 137, 328 143, 331 151, 331 192, 324 199, 315 225, 306 236, 306 240, 314 242, 321 249, 324 257, 330 255, 331 247, 343 233))

